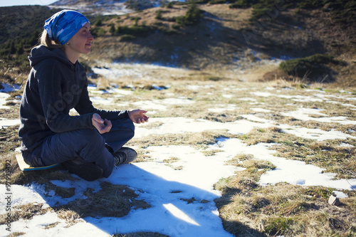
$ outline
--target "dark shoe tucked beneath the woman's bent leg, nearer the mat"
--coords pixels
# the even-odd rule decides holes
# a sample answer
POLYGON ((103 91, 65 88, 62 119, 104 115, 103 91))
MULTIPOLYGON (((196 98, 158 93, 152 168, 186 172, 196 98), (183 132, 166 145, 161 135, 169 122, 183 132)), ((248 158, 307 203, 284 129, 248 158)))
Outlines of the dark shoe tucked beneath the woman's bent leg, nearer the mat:
POLYGON ((94 181, 103 177, 103 169, 100 166, 92 162, 86 162, 83 158, 63 162, 62 166, 71 174, 76 174, 86 181, 94 181))

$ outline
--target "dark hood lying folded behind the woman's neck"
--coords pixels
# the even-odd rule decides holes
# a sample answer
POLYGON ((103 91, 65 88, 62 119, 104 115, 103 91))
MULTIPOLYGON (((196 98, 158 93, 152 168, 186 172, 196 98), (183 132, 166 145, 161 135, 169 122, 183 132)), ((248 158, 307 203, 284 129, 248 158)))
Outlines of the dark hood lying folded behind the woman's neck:
POLYGON ((36 46, 35 48, 32 48, 31 55, 28 56, 31 67, 48 58, 56 58, 61 60, 63 63, 73 66, 73 64, 70 63, 70 60, 68 60, 66 54, 59 48, 47 48, 43 45, 36 46))

